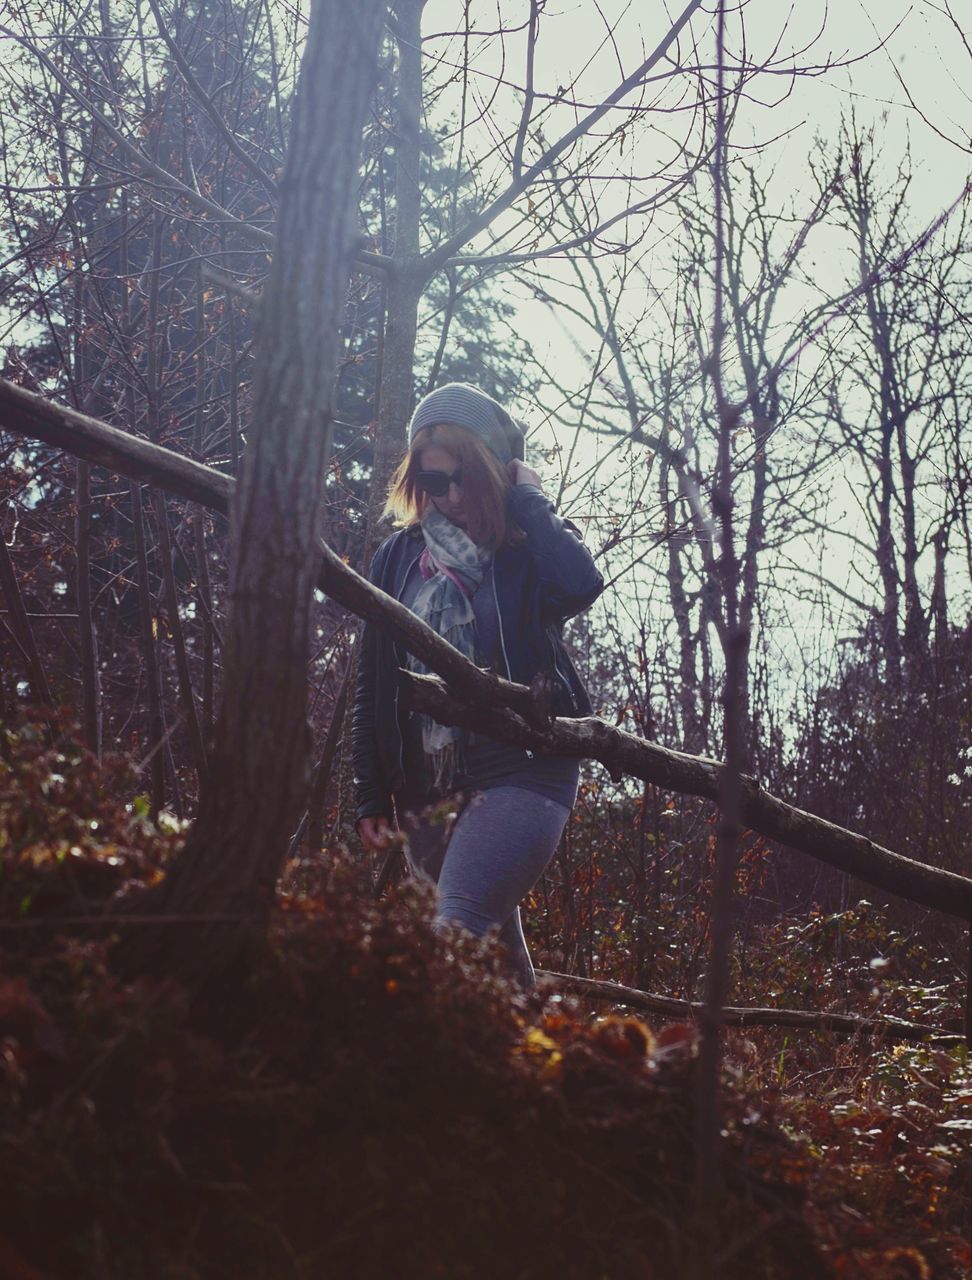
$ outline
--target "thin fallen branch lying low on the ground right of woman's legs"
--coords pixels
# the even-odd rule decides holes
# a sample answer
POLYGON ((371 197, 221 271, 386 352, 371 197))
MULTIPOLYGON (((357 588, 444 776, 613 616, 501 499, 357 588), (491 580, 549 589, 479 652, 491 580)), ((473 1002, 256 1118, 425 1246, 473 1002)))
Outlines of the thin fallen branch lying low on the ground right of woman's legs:
MULTIPOLYGON (((567 991, 587 1000, 607 1000, 612 1005, 625 1005, 628 1009, 640 1009, 648 1014, 665 1014, 674 1018, 699 1018, 703 1006, 695 1001, 672 1000, 670 996, 653 996, 636 987, 624 987, 619 982, 594 982, 592 978, 575 978, 567 973, 549 973, 538 969, 537 977, 553 983, 560 991, 567 991)), ((909 1023, 902 1018, 854 1018, 849 1014, 818 1014, 803 1009, 733 1009, 722 1010, 722 1020, 727 1027, 797 1027, 809 1032, 839 1032, 845 1036, 882 1036, 893 1041, 935 1041, 936 1043, 955 1043, 964 1041, 963 1036, 941 1030, 939 1027, 925 1027, 909 1023)))

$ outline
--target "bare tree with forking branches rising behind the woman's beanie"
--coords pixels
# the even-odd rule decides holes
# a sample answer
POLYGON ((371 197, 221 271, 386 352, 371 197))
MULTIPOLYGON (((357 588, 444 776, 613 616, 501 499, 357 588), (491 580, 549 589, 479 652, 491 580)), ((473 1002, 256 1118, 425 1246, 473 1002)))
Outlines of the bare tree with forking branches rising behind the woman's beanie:
MULTIPOLYGON (((421 155, 420 116, 424 96, 439 95, 442 84, 434 77, 426 79, 423 68, 421 17, 425 0, 402 0, 394 6, 392 26, 397 42, 396 88, 389 102, 391 118, 385 128, 393 128, 394 146, 394 186, 387 193, 383 209, 387 210, 382 225, 382 239, 387 242, 383 255, 384 271, 384 335, 382 348, 380 380, 378 388, 378 417, 374 438, 374 467, 371 504, 369 507, 370 548, 377 536, 377 521, 383 506, 383 494, 388 480, 401 457, 405 438, 403 425, 409 419, 414 399, 414 362, 419 307, 423 297, 441 273, 447 273, 450 291, 464 291, 479 273, 494 274, 505 266, 529 261, 538 253, 557 251, 560 227, 557 210, 566 191, 556 174, 556 166, 566 155, 571 156, 570 184, 583 187, 587 173, 604 150, 604 140, 593 131, 608 127, 608 140, 634 128, 639 116, 647 118, 649 109, 657 106, 665 92, 672 87, 677 95, 684 92, 684 82, 695 81, 693 67, 666 64, 667 54, 699 9, 698 0, 689 0, 670 27, 663 28, 661 38, 647 58, 630 74, 620 79, 616 87, 602 101, 590 108, 579 109, 570 127, 553 142, 544 133, 544 118, 551 108, 560 102, 570 104, 566 88, 557 95, 540 95, 534 82, 535 49, 543 36, 542 5, 530 4, 529 20, 524 27, 515 23, 499 23, 493 35, 501 40, 515 31, 525 36, 522 55, 524 83, 521 88, 522 106, 516 127, 503 134, 485 156, 470 159, 465 136, 467 111, 475 99, 471 96, 469 77, 469 38, 471 35, 470 15, 466 13, 466 27, 447 33, 453 45, 462 41, 462 61, 460 64, 461 87, 458 93, 458 122, 456 136, 457 161, 455 165, 453 189, 447 200, 447 215, 434 214, 429 219, 426 205, 435 191, 433 169, 426 169, 421 155), (662 67, 658 74, 661 88, 648 90, 652 73, 662 67), (649 92, 652 97, 649 99, 649 92), (636 95, 638 105, 631 113, 626 100, 636 95), (612 108, 625 102, 626 110, 619 120, 612 108), (587 154, 581 151, 584 143, 587 154), (429 175, 426 179, 426 174, 429 175), (471 188, 475 187, 475 197, 471 188), (460 198, 462 193, 462 198, 460 198), (524 207, 525 206, 525 207, 524 207), (502 221, 502 233, 492 229, 502 221), (487 253, 465 252, 466 246, 484 233, 492 234, 499 243, 487 253), (512 242, 512 250, 506 244, 512 242), (543 244, 543 247, 540 247, 543 244)), ((439 37, 441 38, 441 37, 439 37)), ((456 79, 448 73, 446 86, 456 79)), ((692 125, 690 125, 692 128, 692 125)), ((639 207, 649 207, 656 200, 665 198, 672 184, 684 180, 694 168, 688 151, 676 154, 672 172, 652 175, 653 195, 639 201, 639 207), (667 180, 665 180, 667 179, 667 180)), ((624 214, 619 215, 624 216, 624 214)), ((612 219, 615 220, 615 219, 612 219)), ((602 230, 601 219, 589 218, 579 242, 593 239, 602 230)), ((578 237, 572 237, 578 242, 578 237)))

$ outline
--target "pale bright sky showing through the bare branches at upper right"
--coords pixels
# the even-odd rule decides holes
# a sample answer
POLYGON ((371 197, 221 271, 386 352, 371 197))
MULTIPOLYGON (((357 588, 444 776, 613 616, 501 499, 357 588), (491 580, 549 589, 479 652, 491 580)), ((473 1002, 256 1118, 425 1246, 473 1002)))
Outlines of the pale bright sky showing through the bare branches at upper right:
MULTIPOLYGON (((498 26, 498 10, 508 27, 522 22, 526 4, 505 0, 502 5, 471 4, 469 13, 474 29, 469 36, 471 52, 470 96, 467 118, 483 113, 482 119, 466 129, 462 142, 465 155, 482 154, 496 143, 499 134, 508 133, 517 118, 521 95, 514 86, 524 81, 525 41, 522 32, 505 41, 487 32, 498 26), (505 81, 506 83, 498 83, 505 81), (492 96, 494 95, 494 96, 492 96)), ((571 93, 585 106, 597 104, 629 74, 645 56, 668 27, 668 15, 677 14, 680 5, 647 5, 634 0, 549 0, 540 18, 539 41, 535 55, 535 86, 540 92, 555 93, 561 86, 570 86, 571 93)), ((430 0, 426 5, 423 33, 425 36, 426 65, 441 59, 433 72, 444 76, 461 61, 461 41, 434 33, 456 28, 462 20, 464 5, 456 0, 430 0), (432 38, 429 38, 432 37, 432 38)), ((962 192, 972 174, 972 5, 953 5, 952 13, 962 15, 964 41, 949 20, 948 0, 931 4, 926 0, 841 0, 825 4, 823 0, 799 0, 793 5, 779 0, 749 0, 744 9, 745 29, 738 18, 727 19, 727 64, 738 59, 745 47, 752 61, 771 61, 771 70, 754 79, 740 101, 730 136, 730 163, 733 157, 749 157, 758 148, 761 165, 772 170, 770 198, 780 210, 806 210, 812 202, 814 188, 809 173, 809 156, 818 145, 838 138, 841 118, 854 113, 863 127, 872 125, 879 140, 881 165, 890 180, 902 161, 905 147, 911 147, 914 180, 909 200, 909 228, 914 234, 931 224, 962 192), (841 65, 843 64, 843 65, 841 65), (788 74, 789 67, 799 67, 804 74, 788 74)), ((715 27, 712 5, 692 20, 692 36, 697 41, 699 59, 715 63, 715 27)), ((680 52, 688 58, 692 41, 684 37, 680 52)), ((633 104, 630 96, 622 105, 633 104)), ((437 102, 438 118, 457 113, 460 102, 458 79, 451 92, 443 92, 437 102)), ((608 179, 607 195, 602 196, 603 209, 624 207, 633 201, 631 189, 620 179, 636 173, 643 180, 636 184, 635 196, 644 196, 674 173, 681 163, 685 148, 699 147, 698 114, 692 113, 689 97, 672 99, 662 93, 656 118, 629 137, 628 146, 612 148, 598 161, 598 173, 608 179), (662 177, 645 177, 661 173, 662 177), (613 179, 611 182, 610 179, 613 179)), ((544 131, 549 142, 570 128, 583 110, 567 104, 551 108, 544 131)), ((612 123, 621 118, 617 113, 612 123)), ((528 141, 526 156, 530 155, 528 141)), ((496 182, 505 180, 506 169, 496 164, 496 182)), ((522 202, 519 206, 522 209, 522 202)), ((645 215, 645 219, 649 215, 645 215)), ((511 216, 497 224, 499 230, 517 227, 511 216)), ((470 246, 478 252, 496 248, 492 236, 484 234, 470 246)), ((517 227, 519 230, 519 227, 517 227)), ((633 228, 617 228, 617 239, 630 237, 633 228)), ((663 220, 651 224, 645 243, 656 242, 647 276, 662 280, 671 269, 666 259, 663 220)), ((832 251, 826 229, 816 233, 814 283, 826 291, 840 292, 845 262, 832 251)), ((503 248, 510 239, 501 241, 503 248)), ((555 278, 567 280, 569 266, 552 260, 555 278)), ((508 297, 517 297, 516 289, 505 283, 508 297)), ((624 305, 631 316, 651 305, 651 285, 631 285, 624 305)), ((793 292, 789 300, 793 314, 806 306, 806 297, 793 292)), ((595 337, 579 326, 562 308, 519 296, 517 326, 529 334, 540 364, 555 371, 562 384, 571 379, 578 387, 587 380, 590 358, 595 349, 595 337), (584 356, 588 356, 587 367, 584 356)), ((515 394, 515 392, 514 392, 515 394)), ((537 428, 535 439, 549 443, 557 428, 544 422, 538 406, 529 402, 517 406, 528 422, 537 428)), ((566 406, 569 419, 572 406, 566 406)), ((619 413, 619 420, 624 415, 619 413)), ((574 472, 584 470, 598 449, 593 435, 575 451, 571 465, 574 472)), ((619 466, 630 470, 630 460, 619 466)), ((556 483, 556 467, 546 475, 556 483)), ((830 485, 830 511, 836 522, 853 530, 857 509, 853 472, 838 466, 827 479, 830 485)), ((630 490, 629 490, 630 492, 630 490)), ((567 493, 570 506, 571 494, 567 493)), ((584 498, 576 494, 578 509, 584 498)), ((576 513, 576 512, 575 512, 576 513)), ((808 562, 822 554, 835 580, 854 591, 861 590, 857 567, 846 547, 835 543, 827 548, 806 548, 808 562)), ((795 632, 807 632, 821 626, 820 618, 809 618, 798 611, 795 632)), ((793 637, 791 637, 793 639, 793 637)))

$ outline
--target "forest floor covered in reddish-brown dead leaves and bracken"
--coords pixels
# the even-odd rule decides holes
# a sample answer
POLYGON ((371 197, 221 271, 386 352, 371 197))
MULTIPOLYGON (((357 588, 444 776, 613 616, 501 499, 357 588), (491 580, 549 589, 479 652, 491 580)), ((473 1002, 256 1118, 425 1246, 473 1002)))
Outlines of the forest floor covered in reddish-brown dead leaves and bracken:
MULTIPOLYGON (((8 728, 0 1280, 698 1276, 694 1027, 517 996, 341 854, 289 868, 219 1001, 119 977, 182 838, 131 795, 8 728)), ((955 978, 908 1000, 954 1023, 955 978)), ((721 1276, 972 1276, 964 1046, 729 1034, 724 1124, 721 1276)))

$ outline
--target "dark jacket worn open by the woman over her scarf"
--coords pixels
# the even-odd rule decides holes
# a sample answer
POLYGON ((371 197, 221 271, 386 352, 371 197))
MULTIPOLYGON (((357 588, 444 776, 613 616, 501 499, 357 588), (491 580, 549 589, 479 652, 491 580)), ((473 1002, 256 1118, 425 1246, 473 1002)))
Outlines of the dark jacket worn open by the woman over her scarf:
MULTIPOLYGON (((501 675, 529 685, 543 671, 558 686, 558 716, 589 716, 590 699, 563 648, 563 621, 598 598, 604 580, 580 531, 561 520, 534 485, 514 485, 510 515, 526 541, 501 548, 493 559, 497 613, 503 659, 501 675)), ((387 538, 371 562, 370 579, 388 595, 401 596, 405 579, 425 541, 419 527, 387 538)), ((402 788, 402 726, 398 713, 398 669, 405 655, 370 622, 361 634, 357 685, 351 719, 351 755, 357 808, 355 819, 384 814, 402 788)))

